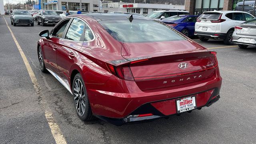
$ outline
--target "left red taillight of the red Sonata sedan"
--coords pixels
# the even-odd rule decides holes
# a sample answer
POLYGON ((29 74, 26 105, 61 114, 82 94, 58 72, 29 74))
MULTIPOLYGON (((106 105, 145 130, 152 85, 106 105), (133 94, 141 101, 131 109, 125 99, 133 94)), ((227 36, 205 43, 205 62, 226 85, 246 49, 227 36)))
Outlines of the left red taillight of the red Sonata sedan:
POLYGON ((134 78, 132 76, 131 69, 128 65, 126 66, 113 66, 112 64, 107 64, 109 71, 117 76, 118 78, 121 78, 123 80, 132 80, 134 81, 134 78))

